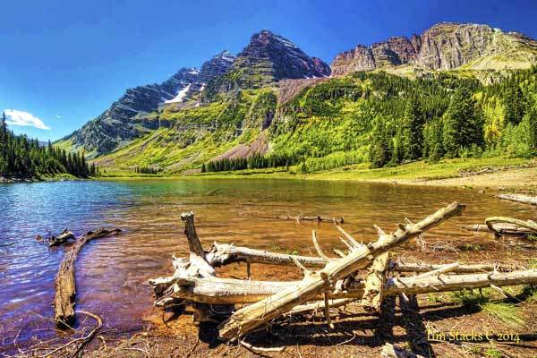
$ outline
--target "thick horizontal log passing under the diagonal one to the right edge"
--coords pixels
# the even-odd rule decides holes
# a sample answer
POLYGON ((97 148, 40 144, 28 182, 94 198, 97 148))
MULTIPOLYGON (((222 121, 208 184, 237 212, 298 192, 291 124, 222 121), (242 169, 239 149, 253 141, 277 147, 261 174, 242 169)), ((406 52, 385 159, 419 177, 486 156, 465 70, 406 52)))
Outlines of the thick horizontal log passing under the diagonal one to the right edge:
MULTIPOLYGON (((450 265, 451 267, 453 265, 450 265)), ((449 268, 449 266, 446 266, 449 268)), ((516 286, 521 284, 537 284, 537 269, 518 270, 511 272, 486 272, 482 274, 414 276, 414 277, 388 277, 383 286, 384 296, 398 294, 429 294, 434 292, 459 291, 472 288, 493 286, 516 286)), ((301 281, 255 281, 222 277, 188 277, 176 274, 174 279, 175 298, 196 303, 208 304, 243 304, 259 303, 282 291, 292 290, 301 285, 301 281)), ((161 278, 160 280, 163 280, 161 278)), ((158 283, 151 280, 152 284, 158 283)), ((338 300, 361 299, 364 292, 363 281, 352 281, 346 284, 345 280, 338 280, 328 292, 328 299, 332 303, 338 300)), ((311 301, 323 301, 324 294, 318 293, 311 297, 311 301)), ((338 303, 343 303, 339 301, 338 303)), ((350 303, 347 301, 346 303, 350 303)), ((305 305, 319 303, 306 303, 305 305)), ((324 304, 324 303, 323 303, 324 304)), ((304 305, 304 306, 305 306, 304 305)), ((330 304, 331 305, 331 304, 330 304)), ((304 308, 297 305, 297 311, 304 308)), ((313 308, 311 308, 313 309, 313 308)), ((293 310, 291 310, 293 311, 293 310)), ((305 310, 310 311, 310 310, 305 310)))

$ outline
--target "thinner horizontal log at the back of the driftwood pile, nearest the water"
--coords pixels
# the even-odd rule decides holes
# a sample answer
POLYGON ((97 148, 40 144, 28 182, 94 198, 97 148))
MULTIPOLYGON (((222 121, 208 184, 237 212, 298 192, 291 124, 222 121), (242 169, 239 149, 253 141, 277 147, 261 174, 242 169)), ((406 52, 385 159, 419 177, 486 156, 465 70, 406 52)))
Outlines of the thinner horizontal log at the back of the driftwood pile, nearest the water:
MULTIPOLYGON (((294 260, 299 261, 306 268, 322 268, 326 265, 326 260, 321 257, 290 255, 264 250, 250 249, 248 247, 234 246, 227 243, 213 243, 212 248, 207 253, 207 260, 211 266, 223 266, 234 262, 262 263, 268 265, 294 266, 294 260)), ((337 260, 337 258, 328 258, 337 260)), ((432 269, 441 268, 442 264, 428 264, 415 262, 389 261, 389 269, 400 272, 427 272, 432 269)), ((469 273, 480 271, 492 271, 494 265, 460 265, 453 272, 469 273)))

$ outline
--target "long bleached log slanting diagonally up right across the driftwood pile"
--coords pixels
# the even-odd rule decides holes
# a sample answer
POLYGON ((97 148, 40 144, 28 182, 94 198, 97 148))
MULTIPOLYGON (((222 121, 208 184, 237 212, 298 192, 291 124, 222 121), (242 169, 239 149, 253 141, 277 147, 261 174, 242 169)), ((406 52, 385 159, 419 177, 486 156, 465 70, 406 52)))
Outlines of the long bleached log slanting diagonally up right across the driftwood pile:
POLYGON ((347 277, 367 267, 376 256, 422 234, 425 230, 438 226, 449 217, 460 215, 464 209, 464 205, 453 202, 417 224, 400 225, 392 234, 380 234, 377 242, 362 245, 345 258, 328 262, 319 272, 305 271, 305 277, 299 285, 234 312, 219 326, 219 336, 226 340, 237 339, 280 314, 292 310, 294 306, 312 301, 316 295, 330 289, 339 278, 347 277))

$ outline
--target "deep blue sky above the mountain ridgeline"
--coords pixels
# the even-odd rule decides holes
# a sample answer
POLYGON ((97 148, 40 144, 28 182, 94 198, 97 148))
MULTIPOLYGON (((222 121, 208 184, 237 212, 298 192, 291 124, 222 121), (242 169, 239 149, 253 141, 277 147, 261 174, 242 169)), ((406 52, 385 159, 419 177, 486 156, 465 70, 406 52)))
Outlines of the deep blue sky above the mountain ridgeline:
POLYGON ((487 23, 537 38, 537 1, 62 1, 2 4, 0 110, 10 127, 56 140, 129 87, 166 80, 268 29, 328 64, 356 44, 439 21, 487 23), (469 4, 471 3, 471 4, 469 4), (39 127, 39 128, 38 128, 39 127))

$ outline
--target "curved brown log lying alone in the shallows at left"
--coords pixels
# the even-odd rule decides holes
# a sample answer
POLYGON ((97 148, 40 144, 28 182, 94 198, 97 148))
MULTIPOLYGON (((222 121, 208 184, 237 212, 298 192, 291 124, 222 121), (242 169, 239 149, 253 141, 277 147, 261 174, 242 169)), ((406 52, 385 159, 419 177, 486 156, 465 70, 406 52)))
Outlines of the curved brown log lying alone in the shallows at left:
POLYGON ((74 303, 76 285, 74 281, 74 262, 82 247, 93 239, 121 233, 120 229, 101 228, 83 234, 80 239, 72 244, 69 251, 65 252, 64 260, 55 277, 54 297, 54 320, 58 327, 69 327, 74 321, 74 303))

